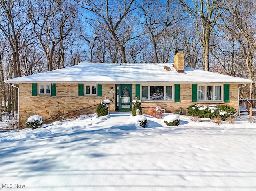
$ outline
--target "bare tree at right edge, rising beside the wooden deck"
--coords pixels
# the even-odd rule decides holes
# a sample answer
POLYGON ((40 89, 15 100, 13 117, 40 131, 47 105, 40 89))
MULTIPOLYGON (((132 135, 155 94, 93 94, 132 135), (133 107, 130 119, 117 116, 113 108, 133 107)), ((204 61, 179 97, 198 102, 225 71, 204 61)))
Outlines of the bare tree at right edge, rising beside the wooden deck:
MULTIPOLYGON (((256 2, 253 0, 233 0, 228 6, 228 12, 222 17, 222 21, 225 32, 230 33, 238 42, 240 47, 236 52, 238 59, 244 61, 248 78, 255 83, 256 2)), ((250 84, 250 99, 252 98, 253 87, 253 84, 250 84)))

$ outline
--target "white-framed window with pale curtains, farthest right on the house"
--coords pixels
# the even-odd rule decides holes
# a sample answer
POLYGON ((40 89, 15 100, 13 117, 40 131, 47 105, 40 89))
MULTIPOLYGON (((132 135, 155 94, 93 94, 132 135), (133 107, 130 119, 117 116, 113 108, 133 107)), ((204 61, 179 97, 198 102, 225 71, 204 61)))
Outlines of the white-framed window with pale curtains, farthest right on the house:
POLYGON ((222 85, 198 85, 198 101, 222 101, 222 85))

